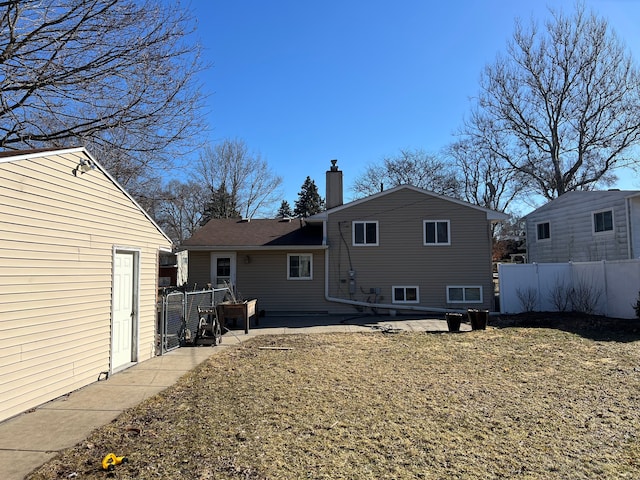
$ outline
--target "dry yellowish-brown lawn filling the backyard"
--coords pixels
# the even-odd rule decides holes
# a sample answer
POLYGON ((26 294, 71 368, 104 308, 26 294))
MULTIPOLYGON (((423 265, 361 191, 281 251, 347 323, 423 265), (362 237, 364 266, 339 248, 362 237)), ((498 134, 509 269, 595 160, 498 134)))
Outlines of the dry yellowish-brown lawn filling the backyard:
POLYGON ((640 341, 256 337, 29 479, 640 478, 640 341), (129 463, 107 474, 102 456, 129 463))

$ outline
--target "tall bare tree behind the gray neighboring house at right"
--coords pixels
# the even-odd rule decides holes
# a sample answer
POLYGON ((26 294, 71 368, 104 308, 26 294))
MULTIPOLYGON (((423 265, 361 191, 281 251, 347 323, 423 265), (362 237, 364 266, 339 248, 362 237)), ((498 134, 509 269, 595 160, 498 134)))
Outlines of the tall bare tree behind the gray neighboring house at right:
POLYGON ((578 5, 541 31, 516 22, 507 54, 488 65, 466 125, 548 199, 610 185, 640 140, 640 76, 607 21, 578 5))

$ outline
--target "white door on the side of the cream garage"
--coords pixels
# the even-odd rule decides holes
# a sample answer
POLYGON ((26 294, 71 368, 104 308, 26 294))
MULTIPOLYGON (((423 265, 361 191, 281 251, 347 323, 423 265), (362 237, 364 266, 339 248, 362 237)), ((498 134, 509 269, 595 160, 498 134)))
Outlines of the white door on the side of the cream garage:
POLYGON ((135 253, 116 252, 113 267, 111 370, 133 360, 135 253))

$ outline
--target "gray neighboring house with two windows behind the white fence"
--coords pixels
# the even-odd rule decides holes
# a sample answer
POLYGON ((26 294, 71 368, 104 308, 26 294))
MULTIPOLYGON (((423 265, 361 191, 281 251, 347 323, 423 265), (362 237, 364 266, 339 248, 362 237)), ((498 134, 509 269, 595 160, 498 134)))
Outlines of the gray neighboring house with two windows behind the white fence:
POLYGON ((640 191, 568 192, 525 221, 531 263, 640 258, 640 191))

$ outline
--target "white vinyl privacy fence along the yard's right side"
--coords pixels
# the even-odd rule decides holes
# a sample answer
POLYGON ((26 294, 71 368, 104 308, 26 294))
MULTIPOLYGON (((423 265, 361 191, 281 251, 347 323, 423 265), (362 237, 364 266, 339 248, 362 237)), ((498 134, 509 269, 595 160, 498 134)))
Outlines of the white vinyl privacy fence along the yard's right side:
POLYGON ((636 318, 640 260, 501 264, 500 313, 576 310, 636 318))

